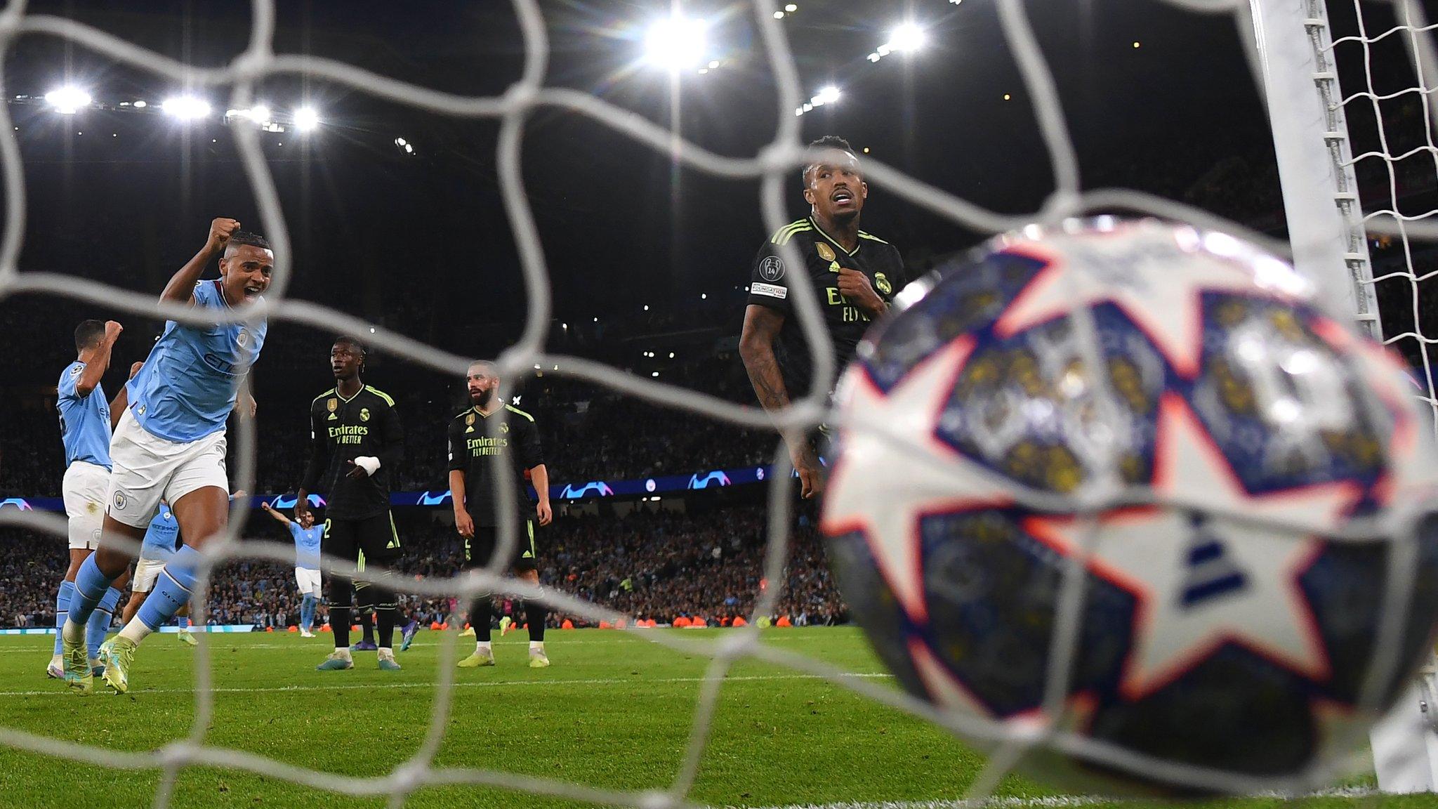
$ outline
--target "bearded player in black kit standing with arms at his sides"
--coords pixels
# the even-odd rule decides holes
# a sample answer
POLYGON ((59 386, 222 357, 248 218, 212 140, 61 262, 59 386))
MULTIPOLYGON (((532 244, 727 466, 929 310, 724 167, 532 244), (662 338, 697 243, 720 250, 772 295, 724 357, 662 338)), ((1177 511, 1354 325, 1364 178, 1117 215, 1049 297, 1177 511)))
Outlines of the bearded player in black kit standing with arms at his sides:
MULTIPOLYGON (((449 426, 450 492, 454 500, 454 527, 464 537, 464 567, 485 567, 499 548, 498 464, 510 464, 515 502, 519 507, 519 543, 510 567, 519 579, 538 586, 535 520, 548 525, 554 518, 549 510, 549 471, 544 465, 539 428, 529 413, 503 404, 493 364, 470 363, 464 381, 470 406, 454 416, 449 426), (500 422, 495 436, 490 436, 487 422, 495 417, 500 422), (525 471, 539 495, 535 505, 529 504, 529 492, 525 491, 525 471)), ((526 600, 523 607, 529 622, 529 666, 548 666, 544 625, 549 610, 538 600, 526 600)), ((489 628, 492 615, 490 595, 476 596, 469 607, 469 622, 475 628, 475 654, 460 661, 460 668, 495 665, 489 628)))

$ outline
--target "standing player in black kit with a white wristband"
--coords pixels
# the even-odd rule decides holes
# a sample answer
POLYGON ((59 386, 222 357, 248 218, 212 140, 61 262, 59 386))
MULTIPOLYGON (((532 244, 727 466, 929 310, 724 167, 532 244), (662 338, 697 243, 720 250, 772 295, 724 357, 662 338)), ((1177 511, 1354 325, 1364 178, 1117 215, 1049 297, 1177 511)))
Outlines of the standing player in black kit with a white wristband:
MULTIPOLYGON (((295 500, 295 518, 309 518, 309 492, 328 492, 325 556, 385 569, 367 573, 375 599, 378 665, 395 671, 394 625, 398 616, 390 566, 400 556, 400 533, 390 514, 390 472, 400 461, 404 428, 394 399, 364 384, 365 350, 352 337, 339 337, 329 351, 335 387, 321 393, 309 407, 311 451, 305 479, 295 500), (361 563, 362 554, 362 563, 361 563)), ((354 668, 349 655, 349 606, 352 582, 331 574, 325 586, 329 628, 335 651, 319 664, 321 671, 354 668)))

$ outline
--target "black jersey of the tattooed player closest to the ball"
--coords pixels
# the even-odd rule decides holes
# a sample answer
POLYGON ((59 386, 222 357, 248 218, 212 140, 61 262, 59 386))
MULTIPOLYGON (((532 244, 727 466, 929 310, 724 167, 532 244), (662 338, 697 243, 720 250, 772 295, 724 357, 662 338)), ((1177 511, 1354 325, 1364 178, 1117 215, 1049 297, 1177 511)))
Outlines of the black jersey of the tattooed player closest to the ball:
POLYGON ((858 232, 858 246, 846 250, 831 239, 812 217, 800 219, 781 227, 764 242, 754 259, 749 278, 749 304, 768 307, 784 315, 784 325, 775 340, 774 354, 784 374, 784 387, 797 399, 810 387, 812 361, 798 314, 792 308, 789 282, 795 272, 804 272, 814 282, 818 307, 834 340, 834 361, 838 371, 854 358, 858 340, 869 330, 870 317, 838 291, 840 268, 857 269, 869 276, 874 292, 884 301, 907 282, 899 250, 877 236, 858 232), (779 248, 792 245, 804 262, 800 268, 785 266, 779 248))

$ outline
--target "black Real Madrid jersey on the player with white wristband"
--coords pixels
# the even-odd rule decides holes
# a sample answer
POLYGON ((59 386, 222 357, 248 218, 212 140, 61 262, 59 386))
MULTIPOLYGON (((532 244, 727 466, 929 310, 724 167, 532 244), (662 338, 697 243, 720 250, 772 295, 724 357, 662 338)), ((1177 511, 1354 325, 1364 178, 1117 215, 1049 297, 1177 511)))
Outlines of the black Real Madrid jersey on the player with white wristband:
POLYGON ((390 394, 364 386, 352 397, 329 389, 309 406, 306 492, 325 495, 325 517, 362 520, 390 510, 390 475, 400 462, 404 428, 390 394), (380 459, 372 476, 349 478, 348 461, 380 459))

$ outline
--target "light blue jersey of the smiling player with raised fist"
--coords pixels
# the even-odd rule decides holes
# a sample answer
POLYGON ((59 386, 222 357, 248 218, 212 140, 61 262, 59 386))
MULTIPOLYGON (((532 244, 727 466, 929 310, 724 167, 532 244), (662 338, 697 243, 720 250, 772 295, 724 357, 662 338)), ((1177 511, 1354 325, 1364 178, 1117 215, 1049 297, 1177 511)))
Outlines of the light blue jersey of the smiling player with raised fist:
MULTIPOLYGON (((219 279, 196 284, 194 305, 230 308, 219 279)), ((177 443, 223 430, 240 380, 260 356, 266 330, 265 321, 201 325, 165 321, 165 333, 145 366, 129 380, 129 412, 145 432, 177 443)))

